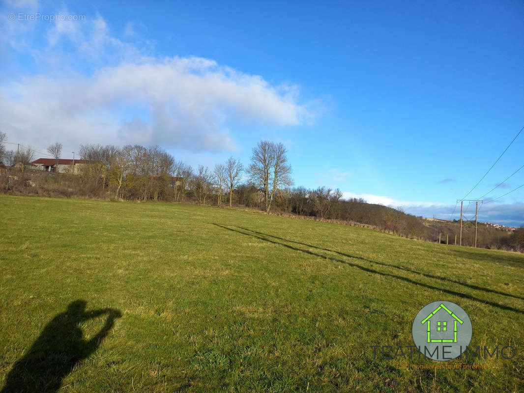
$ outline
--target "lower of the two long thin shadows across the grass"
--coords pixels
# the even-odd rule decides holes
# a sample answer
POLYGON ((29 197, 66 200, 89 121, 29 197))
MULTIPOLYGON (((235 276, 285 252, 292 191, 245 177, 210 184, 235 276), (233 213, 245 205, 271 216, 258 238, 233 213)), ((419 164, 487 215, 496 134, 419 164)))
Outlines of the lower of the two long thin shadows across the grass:
MULTIPOLYGON (((278 244, 280 246, 283 246, 283 247, 286 247, 286 248, 289 248, 289 249, 292 249, 292 250, 295 250, 295 251, 298 251, 298 252, 301 252, 301 253, 313 255, 313 256, 316 256, 316 257, 319 257, 319 258, 323 258, 323 259, 326 259, 326 260, 333 260, 335 262, 339 262, 341 264, 352 266, 352 267, 355 267, 357 269, 366 271, 368 273, 373 273, 373 274, 378 274, 380 276, 395 278, 395 279, 402 280, 402 281, 405 281, 405 282, 408 282, 410 284, 417 285, 417 286, 420 286, 420 287, 433 289, 433 290, 436 290, 436 291, 442 291, 442 292, 445 292, 447 294, 451 294, 453 296, 457 296, 457 297, 460 297, 460 298, 475 300, 475 301, 478 301, 478 302, 481 302, 481 303, 489 304, 489 305, 492 305, 493 307, 499 308, 501 310, 508 310, 508 311, 517 312, 519 314, 524 314, 524 311, 516 309, 516 308, 513 308, 513 307, 510 307, 508 305, 499 304, 499 303, 495 303, 495 302, 492 302, 492 301, 475 298, 475 297, 470 296, 470 295, 468 295, 466 293, 453 291, 451 289, 434 287, 432 285, 429 285, 429 284, 426 284, 426 283, 423 283, 423 282, 414 281, 414 280, 412 280, 410 278, 407 278, 407 277, 397 276, 397 275, 394 275, 394 274, 391 274, 391 273, 378 271, 378 270, 375 270, 375 269, 372 269, 372 268, 368 268, 368 267, 365 267, 365 266, 361 266, 361 265, 358 265, 358 264, 353 264, 351 262, 348 262, 348 261, 345 261, 345 260, 342 260, 342 259, 339 259, 339 258, 334 258, 334 257, 329 257, 329 256, 325 256, 325 255, 322 255, 322 254, 314 253, 314 252, 312 252, 310 250, 304 250, 304 249, 301 249, 301 248, 290 246, 289 244, 280 243, 280 242, 277 242, 275 240, 271 240, 271 239, 268 239, 266 237, 262 237, 260 235, 255 234, 255 233, 246 233, 246 232, 242 232, 242 231, 239 231, 239 230, 236 230, 236 229, 233 229, 233 228, 228 228, 227 226, 223 226, 223 225, 215 224, 215 223, 213 223, 213 225, 219 226, 221 228, 224 228, 225 230, 236 232, 236 233, 239 233, 239 234, 242 234, 242 235, 252 236, 252 237, 255 237, 257 239, 263 240, 265 242, 269 242, 269 243, 272 243, 272 244, 278 244)), ((253 232, 253 231, 250 231, 250 232, 253 232)), ((324 250, 327 250, 327 249, 324 249, 324 250)), ((361 260, 367 261, 369 263, 377 264, 377 265, 384 265, 384 266, 387 266, 387 267, 393 267, 393 266, 390 266, 390 265, 387 265, 387 264, 382 264, 382 263, 379 263, 379 262, 376 262, 376 261, 373 261, 373 260, 370 260, 370 259, 362 258, 362 257, 352 257, 352 256, 349 256, 349 257, 350 258, 354 258, 354 259, 361 259, 361 260)))

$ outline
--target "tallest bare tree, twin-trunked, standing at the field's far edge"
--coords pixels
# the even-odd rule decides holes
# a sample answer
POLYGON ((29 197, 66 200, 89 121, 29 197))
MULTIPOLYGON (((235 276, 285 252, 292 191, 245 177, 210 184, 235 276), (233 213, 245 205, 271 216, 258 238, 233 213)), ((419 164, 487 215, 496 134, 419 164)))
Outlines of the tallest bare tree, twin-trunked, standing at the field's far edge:
POLYGON ((291 167, 287 163, 286 147, 282 143, 262 140, 253 148, 251 165, 247 172, 251 180, 264 188, 266 213, 271 209, 275 193, 281 187, 292 185, 291 167))

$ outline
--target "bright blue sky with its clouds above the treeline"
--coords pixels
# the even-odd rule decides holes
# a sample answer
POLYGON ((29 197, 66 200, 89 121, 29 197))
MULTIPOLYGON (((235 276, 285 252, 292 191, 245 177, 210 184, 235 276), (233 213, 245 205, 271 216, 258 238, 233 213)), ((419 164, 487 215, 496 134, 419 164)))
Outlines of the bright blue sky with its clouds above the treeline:
MULTIPOLYGON (((297 185, 449 219, 524 126, 519 1, 8 1, 0 14, 0 129, 40 151, 158 144, 213 166, 278 140, 297 185)), ((468 198, 523 150, 524 132, 468 198)), ((485 198, 523 183, 524 169, 485 198)), ((524 224, 524 187, 480 219, 524 224)))

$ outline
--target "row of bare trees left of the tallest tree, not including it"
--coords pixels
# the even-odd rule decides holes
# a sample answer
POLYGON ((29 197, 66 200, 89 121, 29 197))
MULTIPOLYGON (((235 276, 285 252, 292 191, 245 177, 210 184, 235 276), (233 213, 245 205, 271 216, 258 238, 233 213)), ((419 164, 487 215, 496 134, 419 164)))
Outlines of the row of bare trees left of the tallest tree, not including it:
POLYGON ((117 199, 193 200, 200 204, 229 204, 243 176, 240 161, 231 157, 212 170, 199 166, 193 170, 183 161, 174 159, 158 146, 127 145, 122 148, 107 145, 80 147, 83 181, 99 185, 117 199))

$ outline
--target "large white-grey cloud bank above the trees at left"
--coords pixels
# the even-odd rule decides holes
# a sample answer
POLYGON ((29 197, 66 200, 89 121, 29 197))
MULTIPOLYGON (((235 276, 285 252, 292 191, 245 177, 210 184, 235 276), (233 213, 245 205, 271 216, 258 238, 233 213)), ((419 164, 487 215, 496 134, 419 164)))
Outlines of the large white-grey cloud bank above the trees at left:
POLYGON ((314 116, 297 86, 201 57, 145 56, 109 31, 100 16, 50 24, 48 46, 31 52, 44 70, 0 85, 0 127, 11 140, 223 151, 237 147, 232 124, 296 126, 314 116), (62 52, 64 42, 77 51, 62 52))

